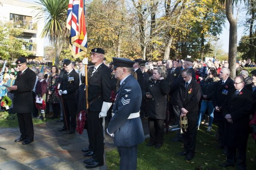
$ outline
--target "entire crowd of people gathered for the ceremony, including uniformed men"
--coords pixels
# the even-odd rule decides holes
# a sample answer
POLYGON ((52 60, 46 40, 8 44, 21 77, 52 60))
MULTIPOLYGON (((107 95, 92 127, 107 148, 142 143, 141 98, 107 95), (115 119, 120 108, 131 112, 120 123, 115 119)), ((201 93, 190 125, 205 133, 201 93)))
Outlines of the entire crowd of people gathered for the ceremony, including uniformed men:
POLYGON ((220 166, 234 166, 236 163, 239 169, 246 169, 249 132, 256 140, 256 70, 251 71, 249 77, 248 71, 243 68, 254 67, 254 62, 250 59, 236 62, 237 76, 231 79, 227 60, 219 61, 216 57, 205 62, 200 59, 194 61, 189 56, 184 60, 157 62, 113 57, 113 61, 106 63, 104 55, 103 49, 94 48, 91 62, 88 59, 79 62, 64 59, 61 67, 39 67, 36 63, 28 65, 26 59, 21 57, 16 61, 17 68, 10 69, 6 65, 0 97, 7 95, 13 101, 12 106, 2 109, 18 113, 22 135, 15 142, 33 142, 31 120, 28 121, 29 127, 23 125, 29 114, 31 116, 32 113, 35 119, 45 120, 47 116, 60 118, 57 122, 64 124, 58 130, 68 130, 72 134, 76 131, 78 113, 85 111, 86 105, 89 105, 84 127, 89 147, 82 151, 84 156, 92 158, 84 160, 86 167, 98 167, 104 163, 104 118, 109 122, 107 133, 114 137, 114 144, 118 147, 120 169, 133 170, 137 164, 137 144, 144 141, 141 119, 148 119, 150 140, 147 146, 160 148, 166 125, 180 127, 180 119, 186 116, 187 128, 180 127, 183 133, 178 130, 172 138, 173 142, 184 144, 184 150, 178 155, 185 156, 185 160, 193 159, 197 130, 206 125, 207 131, 211 131, 215 122, 218 143, 227 154, 227 162, 220 166), (88 65, 86 88, 85 64, 88 65), (33 76, 29 80, 28 77, 23 80, 24 70, 32 71, 29 75, 33 76), (29 84, 29 87, 20 83, 29 84), (26 89, 22 91, 22 88, 26 89), (17 97, 29 93, 29 90, 31 98, 17 97), (29 109, 20 111, 20 107, 24 108, 27 104, 17 104, 16 97, 19 101, 29 100, 32 103, 27 106, 29 109), (128 161, 127 156, 136 160, 128 161))

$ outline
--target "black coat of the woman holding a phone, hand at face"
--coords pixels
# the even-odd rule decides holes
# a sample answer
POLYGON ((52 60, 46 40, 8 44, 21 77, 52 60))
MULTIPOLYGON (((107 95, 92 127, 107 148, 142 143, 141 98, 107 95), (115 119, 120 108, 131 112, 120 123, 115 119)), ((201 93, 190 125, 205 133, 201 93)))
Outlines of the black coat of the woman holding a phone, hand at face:
POLYGON ((146 113, 148 117, 154 119, 166 119, 166 96, 169 93, 169 86, 165 79, 157 80, 154 82, 154 79, 148 80, 146 90, 143 92, 148 92, 151 94, 152 98, 146 99, 146 113))

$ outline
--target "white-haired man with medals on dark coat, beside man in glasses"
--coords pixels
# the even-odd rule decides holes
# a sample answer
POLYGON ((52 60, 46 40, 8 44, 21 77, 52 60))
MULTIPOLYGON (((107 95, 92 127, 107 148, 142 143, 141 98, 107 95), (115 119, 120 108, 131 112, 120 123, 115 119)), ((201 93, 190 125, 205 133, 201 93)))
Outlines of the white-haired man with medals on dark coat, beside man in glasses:
MULTIPOLYGON (((219 78, 221 79, 215 85, 215 92, 212 96, 212 103, 215 108, 214 111, 214 119, 217 121, 218 125, 218 133, 219 133, 219 143, 220 147, 224 148, 224 116, 222 112, 222 104, 224 103, 227 94, 230 93, 231 90, 234 89, 234 82, 229 77, 230 70, 228 68, 221 68, 219 78)), ((225 152, 225 150, 224 150, 225 152)))

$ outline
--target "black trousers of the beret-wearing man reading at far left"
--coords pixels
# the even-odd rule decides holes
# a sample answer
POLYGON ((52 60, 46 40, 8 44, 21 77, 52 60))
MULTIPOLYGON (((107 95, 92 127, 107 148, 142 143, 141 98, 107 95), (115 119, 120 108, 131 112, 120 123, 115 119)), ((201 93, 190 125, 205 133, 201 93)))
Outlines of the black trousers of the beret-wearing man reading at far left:
POLYGON ((21 138, 34 140, 34 127, 31 113, 17 113, 21 138))

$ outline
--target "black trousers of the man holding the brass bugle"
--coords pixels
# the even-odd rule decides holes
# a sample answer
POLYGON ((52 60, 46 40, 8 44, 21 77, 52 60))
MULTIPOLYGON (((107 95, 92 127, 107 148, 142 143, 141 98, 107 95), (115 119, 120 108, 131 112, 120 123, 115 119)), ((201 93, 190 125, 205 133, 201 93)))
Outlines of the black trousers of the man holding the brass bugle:
POLYGON ((188 119, 188 128, 186 132, 183 133, 184 149, 187 152, 195 153, 198 112, 187 113, 186 117, 188 119))

